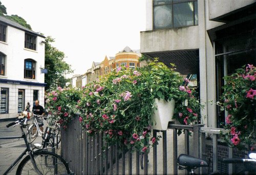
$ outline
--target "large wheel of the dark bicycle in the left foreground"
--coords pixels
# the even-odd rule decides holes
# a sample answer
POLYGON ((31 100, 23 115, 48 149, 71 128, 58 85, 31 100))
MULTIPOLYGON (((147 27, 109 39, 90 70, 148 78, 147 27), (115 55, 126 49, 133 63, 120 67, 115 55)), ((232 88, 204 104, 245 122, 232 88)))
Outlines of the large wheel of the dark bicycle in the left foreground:
MULTIPOLYGON (((53 152, 35 151, 33 152, 33 157, 37 168, 42 174, 70 174, 67 162, 53 152)), ((34 169, 29 155, 20 162, 16 174, 38 174, 34 169)))

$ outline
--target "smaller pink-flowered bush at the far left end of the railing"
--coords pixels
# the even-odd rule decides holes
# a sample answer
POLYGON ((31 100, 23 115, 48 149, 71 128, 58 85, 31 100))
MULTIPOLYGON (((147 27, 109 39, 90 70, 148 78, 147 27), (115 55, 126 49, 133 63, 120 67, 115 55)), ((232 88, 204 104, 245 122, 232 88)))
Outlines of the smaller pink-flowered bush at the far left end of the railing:
POLYGON ((46 94, 46 108, 49 114, 59 117, 59 123, 63 128, 73 119, 76 112, 79 112, 77 103, 81 92, 78 89, 58 87, 56 91, 46 94))

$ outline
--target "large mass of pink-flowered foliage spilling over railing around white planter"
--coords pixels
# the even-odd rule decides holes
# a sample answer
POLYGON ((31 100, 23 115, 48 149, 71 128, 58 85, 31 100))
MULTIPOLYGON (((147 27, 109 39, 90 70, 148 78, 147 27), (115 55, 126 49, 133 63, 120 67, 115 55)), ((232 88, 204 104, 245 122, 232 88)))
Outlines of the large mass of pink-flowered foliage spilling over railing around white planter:
MULTIPOLYGON (((50 93, 47 102, 52 113, 56 114, 60 113, 58 107, 66 109, 61 112, 63 114, 67 112, 69 103, 71 106, 77 104, 74 110, 79 108, 79 122, 89 135, 104 133, 104 140, 108 145, 118 143, 120 147, 126 146, 145 152, 159 140, 158 137, 151 136, 151 115, 156 108, 155 98, 166 101, 175 99, 177 104, 189 99, 191 108, 194 107, 193 110, 198 112, 197 114, 200 113, 201 106, 194 98, 193 92, 188 88, 185 92, 179 90, 182 82, 179 73, 155 59, 147 67, 137 70, 120 67, 101 77, 100 81, 87 84, 81 90, 80 100, 75 99, 78 102, 71 103, 71 97, 67 95, 62 97, 61 94, 65 92, 63 90, 61 93, 50 93), (58 101, 60 99, 63 102, 58 101)), ((187 111, 186 105, 178 107, 187 111)), ((68 113, 72 114, 71 111, 68 113)), ((63 119, 65 120, 65 117, 63 119)), ((193 115, 185 124, 196 123, 194 121, 197 119, 198 117, 193 115)))

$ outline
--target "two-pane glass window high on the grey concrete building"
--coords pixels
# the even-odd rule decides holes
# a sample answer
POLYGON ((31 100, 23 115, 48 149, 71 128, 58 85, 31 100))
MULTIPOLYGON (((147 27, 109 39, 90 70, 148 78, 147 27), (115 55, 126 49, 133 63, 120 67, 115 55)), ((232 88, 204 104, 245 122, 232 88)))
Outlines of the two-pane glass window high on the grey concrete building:
POLYGON ((154 29, 198 25, 197 1, 154 1, 154 29))

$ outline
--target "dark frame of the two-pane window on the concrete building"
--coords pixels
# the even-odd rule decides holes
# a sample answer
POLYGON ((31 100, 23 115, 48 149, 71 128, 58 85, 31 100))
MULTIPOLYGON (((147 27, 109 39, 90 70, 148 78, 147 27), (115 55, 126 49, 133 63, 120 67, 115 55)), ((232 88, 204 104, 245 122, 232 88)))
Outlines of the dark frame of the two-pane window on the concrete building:
MULTIPOLYGON (((189 26, 197 26, 198 25, 198 19, 197 19, 197 22, 196 22, 196 20, 195 20, 195 16, 196 16, 196 13, 195 13, 195 11, 197 11, 197 15, 198 15, 198 7, 196 7, 195 8, 195 3, 197 3, 198 2, 198 0, 183 0, 183 1, 179 1, 179 2, 177 2, 177 1, 174 1, 174 0, 172 0, 172 1, 153 1, 153 30, 161 30, 161 29, 173 29, 173 28, 183 28, 183 27, 189 27, 189 26), (174 13, 174 5, 176 5, 176 4, 182 4, 182 3, 193 3, 193 8, 194 8, 194 11, 193 11, 193 25, 187 25, 187 26, 178 26, 178 27, 174 27, 174 16, 175 16, 175 13, 174 13), (157 3, 159 3, 159 4, 157 4, 157 3), (162 3, 162 4, 160 4, 160 3, 162 3), (159 6, 172 6, 172 24, 171 24, 171 26, 172 27, 162 27, 162 28, 156 28, 155 27, 155 7, 159 7, 159 6)), ((197 6, 198 6, 198 3, 197 3, 197 6)))

